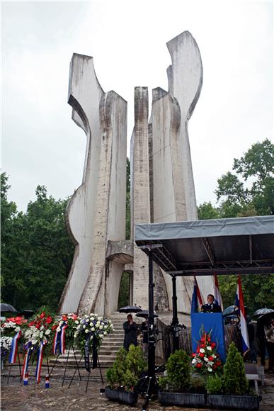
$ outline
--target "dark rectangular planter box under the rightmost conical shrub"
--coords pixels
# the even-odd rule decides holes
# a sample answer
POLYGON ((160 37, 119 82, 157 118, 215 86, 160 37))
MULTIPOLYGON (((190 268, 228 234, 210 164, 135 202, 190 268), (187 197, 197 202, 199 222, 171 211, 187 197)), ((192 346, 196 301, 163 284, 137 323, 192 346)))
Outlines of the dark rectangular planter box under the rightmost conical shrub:
POLYGON ((207 394, 207 404, 212 408, 231 410, 258 410, 260 405, 258 395, 222 395, 207 394))

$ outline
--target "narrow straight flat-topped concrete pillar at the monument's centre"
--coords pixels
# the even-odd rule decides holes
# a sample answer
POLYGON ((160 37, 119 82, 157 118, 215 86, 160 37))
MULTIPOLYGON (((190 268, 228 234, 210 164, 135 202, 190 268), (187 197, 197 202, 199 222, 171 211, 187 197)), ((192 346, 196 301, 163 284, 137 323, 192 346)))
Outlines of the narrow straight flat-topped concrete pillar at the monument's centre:
MULTIPOLYGON (((148 91, 147 87, 135 87, 135 130, 132 158, 132 223, 150 223, 149 207, 149 142, 148 142, 148 91)), ((135 238, 135 236, 133 236, 135 238)), ((147 256, 134 242, 133 301, 148 308, 148 263, 147 256)))

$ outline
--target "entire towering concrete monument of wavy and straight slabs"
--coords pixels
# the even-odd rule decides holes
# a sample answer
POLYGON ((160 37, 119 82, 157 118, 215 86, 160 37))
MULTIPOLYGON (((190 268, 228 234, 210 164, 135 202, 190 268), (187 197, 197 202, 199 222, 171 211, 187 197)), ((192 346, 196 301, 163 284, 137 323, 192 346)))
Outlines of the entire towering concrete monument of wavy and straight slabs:
MULTIPOLYGON (((120 278, 132 273, 130 303, 148 307, 147 257, 134 242, 135 225, 197 220, 188 140, 188 120, 200 96, 202 62, 187 31, 167 43, 172 65, 169 91, 153 90, 148 119, 147 87, 135 87, 135 128, 131 140, 131 240, 125 240, 127 103, 98 83, 93 58, 74 54, 70 68, 72 119, 86 133, 81 186, 67 209, 76 244, 72 269, 59 304, 110 315, 118 309, 120 278)), ((154 264, 157 310, 172 307, 171 278, 154 264)), ((203 295, 212 278, 198 278, 203 295)), ((178 310, 190 313, 193 278, 178 278, 178 310)))

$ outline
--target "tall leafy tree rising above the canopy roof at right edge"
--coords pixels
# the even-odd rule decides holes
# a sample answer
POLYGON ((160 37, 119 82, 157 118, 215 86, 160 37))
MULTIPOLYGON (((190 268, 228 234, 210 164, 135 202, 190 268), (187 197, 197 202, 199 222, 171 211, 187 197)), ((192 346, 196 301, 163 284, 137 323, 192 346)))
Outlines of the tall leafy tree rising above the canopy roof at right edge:
POLYGON ((274 214, 274 145, 270 140, 256 142, 233 170, 217 180, 215 193, 224 218, 274 214), (248 183, 245 186, 245 182, 248 183))

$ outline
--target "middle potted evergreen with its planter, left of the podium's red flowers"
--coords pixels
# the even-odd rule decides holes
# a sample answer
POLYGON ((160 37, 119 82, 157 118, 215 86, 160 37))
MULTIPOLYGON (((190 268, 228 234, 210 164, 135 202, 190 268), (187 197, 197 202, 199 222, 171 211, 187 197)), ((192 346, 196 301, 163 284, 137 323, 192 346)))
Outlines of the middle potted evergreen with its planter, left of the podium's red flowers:
POLYGON ((175 351, 166 364, 166 376, 159 378, 159 402, 167 405, 202 407, 205 394, 191 392, 195 385, 190 376, 190 358, 183 350, 175 351))

